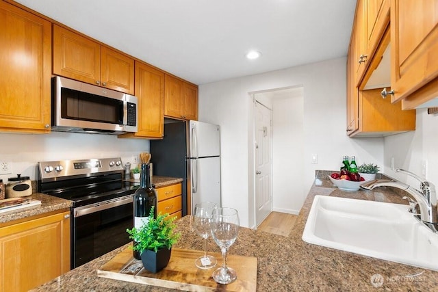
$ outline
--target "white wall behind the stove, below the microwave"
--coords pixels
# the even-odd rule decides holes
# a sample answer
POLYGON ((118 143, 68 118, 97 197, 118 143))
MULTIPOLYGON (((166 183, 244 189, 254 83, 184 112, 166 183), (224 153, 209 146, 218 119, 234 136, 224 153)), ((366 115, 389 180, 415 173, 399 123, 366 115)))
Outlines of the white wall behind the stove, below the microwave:
POLYGON ((12 174, 0 175, 3 182, 21 174, 38 179, 38 161, 121 157, 123 164, 149 151, 149 140, 118 139, 114 135, 60 133, 32 135, 0 133, 0 161, 12 162, 12 174))

